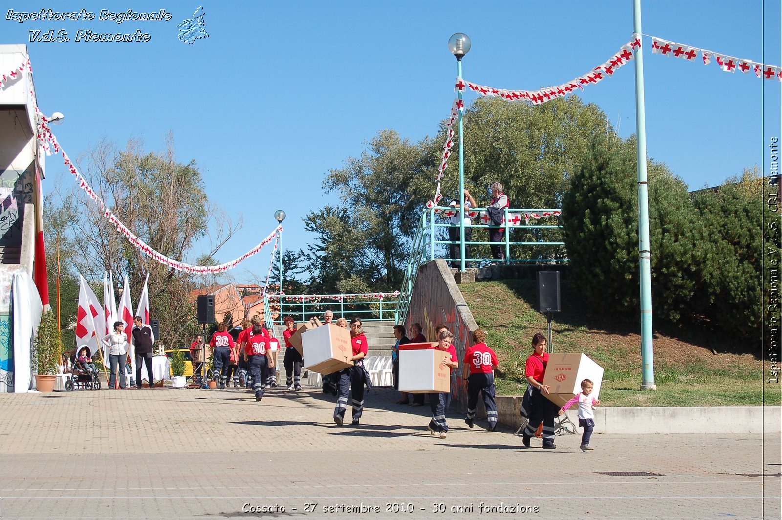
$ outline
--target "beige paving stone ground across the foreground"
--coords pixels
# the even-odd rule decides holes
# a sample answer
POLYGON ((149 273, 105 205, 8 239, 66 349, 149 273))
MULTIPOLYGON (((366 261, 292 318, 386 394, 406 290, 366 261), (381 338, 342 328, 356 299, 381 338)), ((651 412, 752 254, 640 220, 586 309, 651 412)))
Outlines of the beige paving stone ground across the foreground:
POLYGON ((543 450, 398 395, 339 428, 313 389, 0 394, 0 518, 780 518, 779 431, 543 450))

